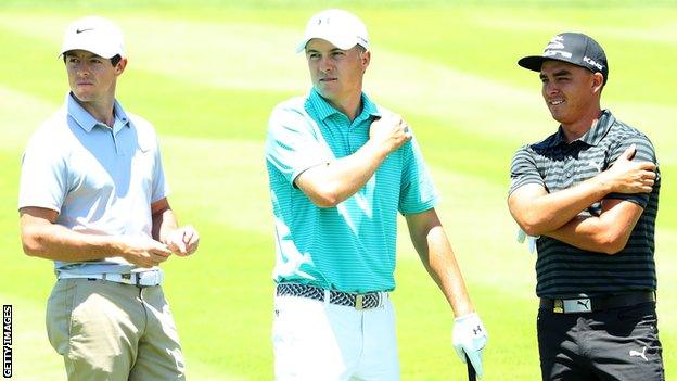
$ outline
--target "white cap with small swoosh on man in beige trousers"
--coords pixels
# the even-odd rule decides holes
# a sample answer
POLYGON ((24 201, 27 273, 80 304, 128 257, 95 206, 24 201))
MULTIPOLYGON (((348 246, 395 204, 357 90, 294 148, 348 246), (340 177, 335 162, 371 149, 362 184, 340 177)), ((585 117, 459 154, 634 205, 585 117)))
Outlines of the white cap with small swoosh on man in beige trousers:
MULTIPOLYGON (((68 50, 86 50, 104 59, 125 56, 123 31, 112 21, 87 16, 74 21, 66 28, 61 54, 68 50)), ((61 55, 60 54, 60 55, 61 55)))

